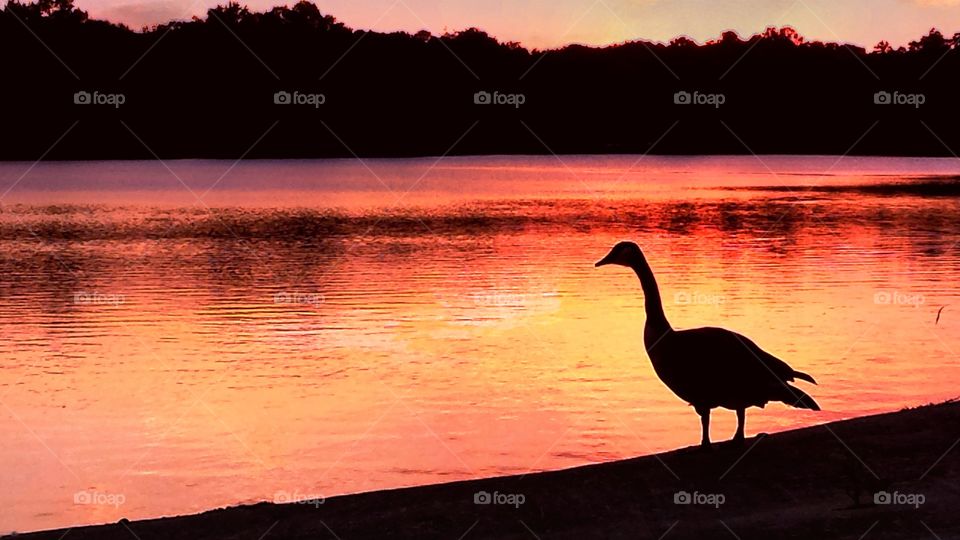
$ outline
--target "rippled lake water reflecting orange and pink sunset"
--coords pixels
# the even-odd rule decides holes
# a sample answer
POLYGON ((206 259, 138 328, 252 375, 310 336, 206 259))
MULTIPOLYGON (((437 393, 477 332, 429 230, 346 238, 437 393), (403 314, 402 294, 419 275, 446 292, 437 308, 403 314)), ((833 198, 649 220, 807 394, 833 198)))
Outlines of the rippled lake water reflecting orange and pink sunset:
MULTIPOLYGON (((960 395, 960 160, 0 164, 0 532, 693 445, 643 350, 739 331, 822 412, 960 395), (938 311, 942 306, 942 312, 938 311)), ((715 440, 734 414, 713 416, 715 440)))

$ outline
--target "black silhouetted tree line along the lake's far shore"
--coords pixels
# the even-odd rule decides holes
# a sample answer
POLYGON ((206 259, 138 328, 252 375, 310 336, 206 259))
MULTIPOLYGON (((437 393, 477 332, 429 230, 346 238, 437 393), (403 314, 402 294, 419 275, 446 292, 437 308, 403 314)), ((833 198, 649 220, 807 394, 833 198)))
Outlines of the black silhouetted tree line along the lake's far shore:
POLYGON ((306 1, 136 32, 39 0, 4 7, 0 47, 0 159, 960 152, 960 34, 935 29, 872 52, 792 28, 541 51, 354 30, 306 1))

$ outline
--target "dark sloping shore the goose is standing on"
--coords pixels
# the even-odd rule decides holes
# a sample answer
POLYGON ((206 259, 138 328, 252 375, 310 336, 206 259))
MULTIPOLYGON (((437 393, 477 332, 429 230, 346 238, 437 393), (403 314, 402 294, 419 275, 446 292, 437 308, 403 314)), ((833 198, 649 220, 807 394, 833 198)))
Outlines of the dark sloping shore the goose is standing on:
POLYGON ((743 446, 721 443, 712 452, 687 448, 319 505, 262 503, 17 538, 945 540, 960 538, 958 441, 960 403, 951 402, 751 438, 743 446), (880 502, 891 503, 877 504, 878 492, 880 502))

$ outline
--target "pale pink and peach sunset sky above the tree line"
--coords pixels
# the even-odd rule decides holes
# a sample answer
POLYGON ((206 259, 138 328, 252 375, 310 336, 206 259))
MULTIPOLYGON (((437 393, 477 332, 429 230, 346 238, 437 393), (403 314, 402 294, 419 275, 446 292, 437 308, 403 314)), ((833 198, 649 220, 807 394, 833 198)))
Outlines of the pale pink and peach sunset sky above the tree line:
MULTIPOLYGON (((296 0, 248 0, 253 10, 296 0)), ((202 15, 227 0, 75 0, 96 18, 139 29, 202 15)), ((475 26, 501 41, 528 48, 569 43, 606 45, 633 39, 699 42, 725 30, 743 36, 767 26, 792 26, 808 39, 867 48, 894 46, 932 27, 960 32, 960 0, 314 0, 323 13, 352 28, 428 30, 433 34, 475 26)))

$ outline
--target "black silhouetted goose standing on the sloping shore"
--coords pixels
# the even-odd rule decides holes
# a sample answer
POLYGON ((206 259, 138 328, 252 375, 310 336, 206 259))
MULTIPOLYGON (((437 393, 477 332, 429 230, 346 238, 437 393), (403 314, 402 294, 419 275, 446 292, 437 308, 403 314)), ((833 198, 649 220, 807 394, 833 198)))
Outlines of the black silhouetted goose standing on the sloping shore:
POLYGON ((820 410, 813 398, 788 384, 794 379, 816 384, 813 377, 746 337, 724 328, 674 330, 663 312, 657 280, 637 244, 618 243, 595 266, 610 264, 626 266, 640 278, 647 316, 644 347, 657 377, 700 415, 702 447, 710 448, 710 410, 717 407, 736 411, 733 441, 741 444, 748 407, 780 401, 798 409, 820 410))

